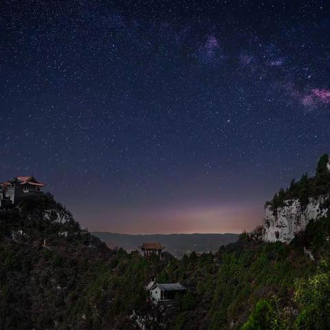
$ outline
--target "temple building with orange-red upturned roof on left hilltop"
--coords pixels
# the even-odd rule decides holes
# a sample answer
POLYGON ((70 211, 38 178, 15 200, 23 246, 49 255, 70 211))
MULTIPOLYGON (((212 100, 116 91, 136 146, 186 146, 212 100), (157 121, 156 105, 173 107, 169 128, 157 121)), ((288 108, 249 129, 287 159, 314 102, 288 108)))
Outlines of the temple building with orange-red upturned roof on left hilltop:
POLYGON ((35 177, 13 177, 0 184, 0 206, 5 203, 17 204, 23 197, 43 193, 41 188, 46 186, 35 177))

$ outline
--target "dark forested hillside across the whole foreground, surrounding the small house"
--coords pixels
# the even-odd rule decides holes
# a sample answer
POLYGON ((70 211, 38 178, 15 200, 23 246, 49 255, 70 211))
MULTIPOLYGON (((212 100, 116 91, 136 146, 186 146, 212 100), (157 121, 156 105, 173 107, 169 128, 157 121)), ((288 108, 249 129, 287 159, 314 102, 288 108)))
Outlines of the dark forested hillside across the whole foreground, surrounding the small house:
POLYGON ((257 228, 217 253, 159 261, 109 250, 51 195, 26 199, 0 211, 0 329, 328 329, 329 236, 324 218, 290 245, 257 228), (153 277, 188 290, 159 311, 144 291, 153 277))

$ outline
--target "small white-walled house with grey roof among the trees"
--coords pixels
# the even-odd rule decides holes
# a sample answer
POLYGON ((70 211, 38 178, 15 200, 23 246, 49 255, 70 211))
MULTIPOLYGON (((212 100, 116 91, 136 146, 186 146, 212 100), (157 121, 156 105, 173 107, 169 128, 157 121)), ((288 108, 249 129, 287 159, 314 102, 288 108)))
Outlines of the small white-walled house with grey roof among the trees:
POLYGON ((153 303, 162 303, 173 300, 177 295, 184 294, 186 287, 181 283, 154 283, 149 288, 153 303))

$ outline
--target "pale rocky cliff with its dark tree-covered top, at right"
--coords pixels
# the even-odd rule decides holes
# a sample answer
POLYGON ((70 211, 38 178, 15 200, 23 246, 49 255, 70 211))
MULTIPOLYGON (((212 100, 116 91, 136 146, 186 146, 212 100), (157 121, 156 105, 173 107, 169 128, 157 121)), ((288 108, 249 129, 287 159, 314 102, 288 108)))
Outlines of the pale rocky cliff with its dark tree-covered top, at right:
POLYGON ((328 215, 330 210, 329 156, 322 155, 316 167, 316 175, 305 173, 300 180, 292 180, 290 186, 276 193, 265 204, 263 240, 287 242, 305 230, 311 220, 328 215))

